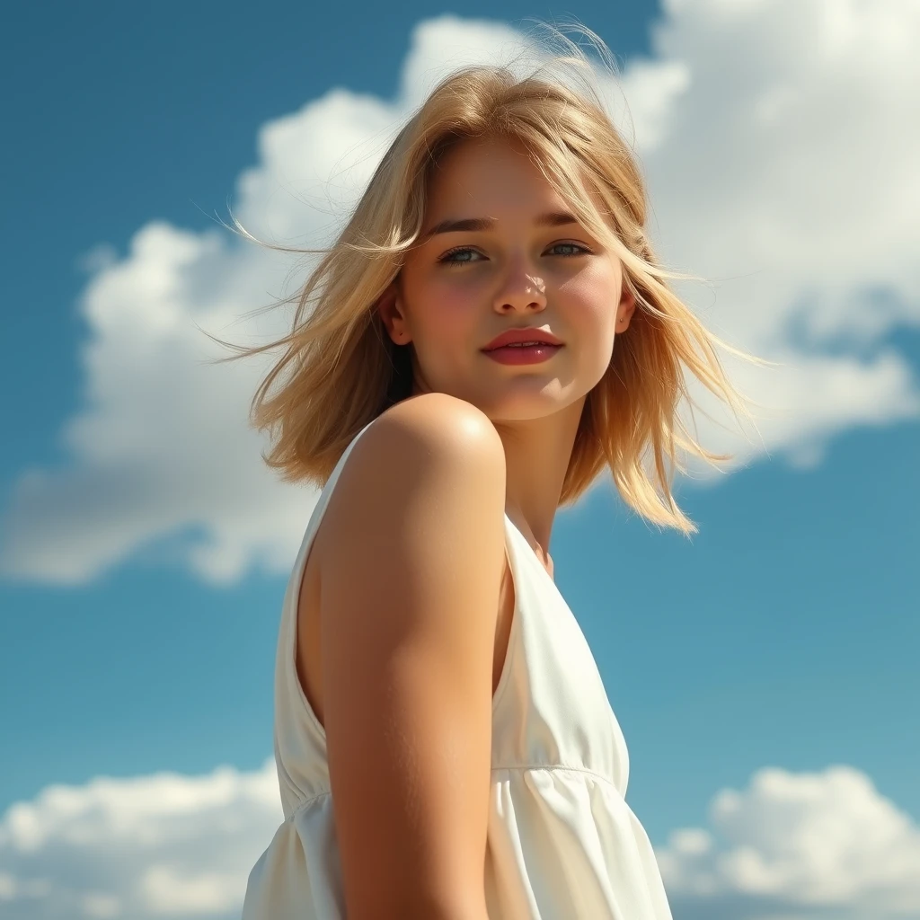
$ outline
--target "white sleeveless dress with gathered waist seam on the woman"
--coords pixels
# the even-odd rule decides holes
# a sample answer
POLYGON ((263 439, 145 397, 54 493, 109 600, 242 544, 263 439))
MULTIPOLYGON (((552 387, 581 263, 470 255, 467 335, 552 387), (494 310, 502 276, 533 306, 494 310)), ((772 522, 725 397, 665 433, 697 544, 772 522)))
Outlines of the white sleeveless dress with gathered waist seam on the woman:
MULTIPOLYGON (((359 431, 320 494, 282 608, 275 762, 284 822, 249 874, 243 920, 347 920, 325 733, 295 666, 305 559, 359 431)), ((492 707, 489 920, 672 920, 626 803, 626 742, 568 604, 505 515, 516 603, 492 707)))

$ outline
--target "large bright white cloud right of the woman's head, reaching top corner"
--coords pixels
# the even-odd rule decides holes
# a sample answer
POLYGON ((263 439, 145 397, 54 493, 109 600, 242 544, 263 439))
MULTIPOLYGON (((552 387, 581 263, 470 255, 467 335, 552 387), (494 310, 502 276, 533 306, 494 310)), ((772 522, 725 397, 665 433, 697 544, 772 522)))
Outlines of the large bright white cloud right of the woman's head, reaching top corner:
MULTIPOLYGON (((642 147, 663 257, 732 343, 780 362, 736 377, 763 443, 703 428, 743 462, 818 458, 837 431, 920 415, 916 374, 884 347, 920 326, 920 34, 912 0, 670 0, 650 71, 689 75, 667 136, 642 147)), ((629 86, 625 86, 627 97, 629 86)), ((721 416, 724 419, 724 415, 721 416)))

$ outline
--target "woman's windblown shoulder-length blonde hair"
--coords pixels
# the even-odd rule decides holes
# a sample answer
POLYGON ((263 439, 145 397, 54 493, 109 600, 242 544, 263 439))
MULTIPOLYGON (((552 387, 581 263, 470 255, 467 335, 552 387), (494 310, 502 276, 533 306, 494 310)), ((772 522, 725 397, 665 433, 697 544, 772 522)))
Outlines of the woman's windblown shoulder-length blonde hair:
MULTIPOLYGON (((577 28, 615 71, 604 42, 577 28)), ((562 40, 568 53, 544 66, 591 72, 581 48, 562 40)), ((620 259, 637 304, 629 328, 616 336, 606 373, 586 397, 559 504, 577 501, 607 467, 636 512, 689 534, 696 527, 672 494, 673 471, 685 471, 680 452, 712 463, 726 457, 697 443, 679 417, 682 399, 693 411, 684 371, 737 417, 745 411, 742 397, 715 348, 741 352, 707 331, 669 288, 669 278, 700 279, 666 270, 656 259, 645 234, 648 206, 637 162, 590 81, 579 91, 563 79, 541 78, 539 69, 518 78, 508 66, 469 66, 443 79, 398 132, 327 249, 261 243, 234 218, 259 245, 323 255, 303 287, 280 302, 297 301, 287 335, 255 348, 214 340, 238 352, 221 361, 284 349, 253 397, 251 421, 274 436, 263 459, 282 479, 325 485, 357 432, 410 394, 413 346, 389 339, 375 306, 420 237, 432 169, 466 139, 516 139, 582 224, 620 259), (604 213, 595 209, 592 192, 604 213)))

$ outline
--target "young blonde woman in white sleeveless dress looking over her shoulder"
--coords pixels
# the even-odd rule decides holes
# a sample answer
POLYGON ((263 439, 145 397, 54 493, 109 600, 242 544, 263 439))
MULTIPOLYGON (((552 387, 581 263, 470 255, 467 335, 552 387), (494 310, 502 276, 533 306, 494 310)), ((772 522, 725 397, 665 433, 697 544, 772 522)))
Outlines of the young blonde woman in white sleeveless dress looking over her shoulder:
POLYGON ((646 211, 590 92, 466 68, 299 293, 255 417, 270 466, 323 488, 278 644, 285 821, 246 920, 671 916, 549 555, 605 470, 692 531, 684 373, 740 405, 646 211))

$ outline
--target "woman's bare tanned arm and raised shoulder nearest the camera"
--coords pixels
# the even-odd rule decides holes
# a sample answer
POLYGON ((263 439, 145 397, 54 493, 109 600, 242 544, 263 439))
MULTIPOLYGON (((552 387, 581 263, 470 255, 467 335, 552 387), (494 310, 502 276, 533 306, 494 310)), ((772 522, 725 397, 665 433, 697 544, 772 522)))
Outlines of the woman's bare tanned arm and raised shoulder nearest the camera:
POLYGON ((484 916, 500 438, 426 395, 374 422, 338 486, 320 635, 349 916, 484 916))

